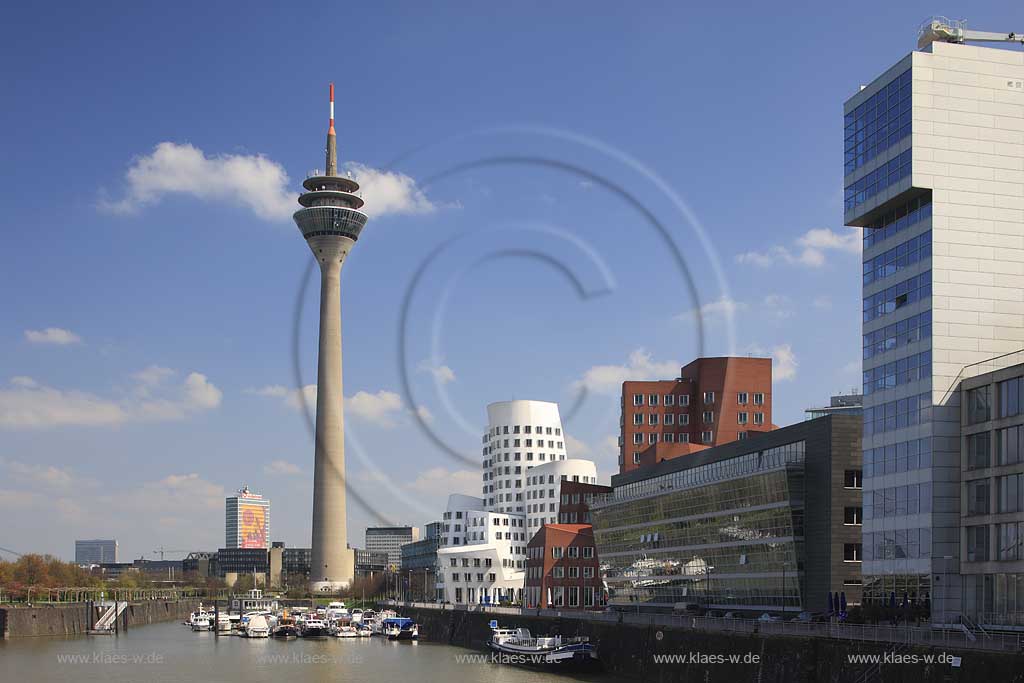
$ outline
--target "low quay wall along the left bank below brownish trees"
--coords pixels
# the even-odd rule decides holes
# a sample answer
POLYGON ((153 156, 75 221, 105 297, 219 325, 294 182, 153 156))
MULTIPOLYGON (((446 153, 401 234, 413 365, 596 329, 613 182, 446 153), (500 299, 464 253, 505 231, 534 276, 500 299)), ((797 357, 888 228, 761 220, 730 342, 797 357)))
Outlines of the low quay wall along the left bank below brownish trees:
MULTIPOLYGON (((184 621, 199 606, 199 600, 146 600, 125 610, 128 628, 158 622, 184 621)), ((97 614, 99 610, 96 610, 97 614)), ((96 616, 91 621, 95 622, 96 616)), ((125 614, 120 617, 124 625, 125 614)), ((0 607, 0 632, 4 638, 32 636, 74 636, 89 628, 86 603, 35 607, 0 607)))

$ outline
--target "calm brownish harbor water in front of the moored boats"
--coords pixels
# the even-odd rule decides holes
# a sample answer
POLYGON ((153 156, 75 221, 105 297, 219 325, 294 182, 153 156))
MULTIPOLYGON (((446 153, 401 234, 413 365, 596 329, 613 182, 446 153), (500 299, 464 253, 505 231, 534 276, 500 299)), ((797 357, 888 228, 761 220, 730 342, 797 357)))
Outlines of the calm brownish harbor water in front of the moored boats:
POLYGON ((154 624, 119 636, 0 640, 0 681, 425 681, 618 683, 496 664, 489 654, 427 641, 328 638, 281 641, 154 624))

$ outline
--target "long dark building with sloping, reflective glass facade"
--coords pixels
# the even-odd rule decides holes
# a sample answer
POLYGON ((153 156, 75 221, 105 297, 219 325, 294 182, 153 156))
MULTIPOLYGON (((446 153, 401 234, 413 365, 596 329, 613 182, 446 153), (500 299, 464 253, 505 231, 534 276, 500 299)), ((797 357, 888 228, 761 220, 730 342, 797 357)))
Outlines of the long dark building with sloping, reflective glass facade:
POLYGON ((859 425, 823 417, 613 477, 591 503, 609 604, 859 602, 859 425))

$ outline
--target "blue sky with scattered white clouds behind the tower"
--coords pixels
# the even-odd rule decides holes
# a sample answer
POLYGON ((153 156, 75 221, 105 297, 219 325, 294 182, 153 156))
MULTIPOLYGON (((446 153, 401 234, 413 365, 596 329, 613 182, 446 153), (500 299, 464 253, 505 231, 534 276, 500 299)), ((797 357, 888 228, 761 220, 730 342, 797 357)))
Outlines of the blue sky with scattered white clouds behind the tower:
POLYGON ((700 353, 773 354, 775 422, 802 419, 859 384, 842 102, 932 13, 964 7, 12 7, 0 546, 213 549, 243 483, 308 545, 317 283, 297 305, 290 214, 330 81, 371 215, 342 285, 353 545, 478 490, 489 401, 558 401, 605 477, 617 383, 700 353))

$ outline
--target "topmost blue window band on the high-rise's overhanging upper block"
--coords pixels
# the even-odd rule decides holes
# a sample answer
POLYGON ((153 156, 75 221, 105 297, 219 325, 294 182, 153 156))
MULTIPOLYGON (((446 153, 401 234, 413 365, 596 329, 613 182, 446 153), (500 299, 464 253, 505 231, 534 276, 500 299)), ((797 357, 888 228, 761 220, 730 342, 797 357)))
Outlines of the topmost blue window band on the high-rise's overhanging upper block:
POLYGON ((910 134, 910 84, 908 69, 844 117, 847 175, 910 134))

